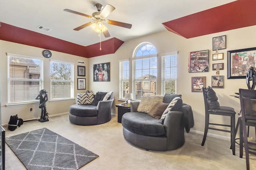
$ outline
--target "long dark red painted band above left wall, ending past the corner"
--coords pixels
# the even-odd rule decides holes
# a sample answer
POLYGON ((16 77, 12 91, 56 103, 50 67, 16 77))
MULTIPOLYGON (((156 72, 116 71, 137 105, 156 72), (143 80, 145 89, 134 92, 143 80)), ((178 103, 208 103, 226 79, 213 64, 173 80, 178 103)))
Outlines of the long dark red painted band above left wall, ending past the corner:
POLYGON ((115 53, 124 43, 117 38, 111 38, 110 40, 102 42, 102 50, 100 51, 99 43, 82 46, 2 22, 0 27, 0 40, 50 49, 86 58, 115 53))

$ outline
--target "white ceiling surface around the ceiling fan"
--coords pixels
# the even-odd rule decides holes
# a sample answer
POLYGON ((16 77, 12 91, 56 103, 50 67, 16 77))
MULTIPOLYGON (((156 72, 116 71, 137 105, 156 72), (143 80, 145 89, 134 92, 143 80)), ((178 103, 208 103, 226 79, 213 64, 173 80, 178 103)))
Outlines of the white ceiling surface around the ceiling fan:
MULTIPOLYGON (((86 27, 73 29, 90 22, 90 18, 64 12, 70 9, 83 14, 96 12, 94 4, 110 4, 116 9, 109 20, 132 24, 131 29, 106 24, 109 38, 102 34, 102 41, 118 38, 127 41, 156 32, 166 31, 162 23, 194 14, 234 0, 0 0, 0 22, 54 38, 87 46, 100 42, 98 33, 86 27), (39 30, 43 26, 50 32, 39 30)), ((50 43, 50 42, 49 42, 50 43)))

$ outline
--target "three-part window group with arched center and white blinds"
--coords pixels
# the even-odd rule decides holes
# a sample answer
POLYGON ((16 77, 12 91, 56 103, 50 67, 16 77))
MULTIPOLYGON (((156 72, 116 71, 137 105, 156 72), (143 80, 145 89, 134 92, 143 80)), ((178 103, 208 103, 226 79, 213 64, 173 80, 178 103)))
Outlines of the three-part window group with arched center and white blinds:
POLYGON ((120 99, 125 99, 125 93, 132 93, 133 100, 140 100, 142 95, 159 94, 160 91, 156 93, 157 84, 158 90, 161 87, 161 95, 176 94, 177 56, 178 51, 157 54, 152 43, 140 43, 132 58, 119 61, 120 99), (160 68, 157 68, 157 60, 162 63, 158 64, 160 68), (161 81, 158 78, 158 82, 157 71, 161 71, 158 73, 161 81))

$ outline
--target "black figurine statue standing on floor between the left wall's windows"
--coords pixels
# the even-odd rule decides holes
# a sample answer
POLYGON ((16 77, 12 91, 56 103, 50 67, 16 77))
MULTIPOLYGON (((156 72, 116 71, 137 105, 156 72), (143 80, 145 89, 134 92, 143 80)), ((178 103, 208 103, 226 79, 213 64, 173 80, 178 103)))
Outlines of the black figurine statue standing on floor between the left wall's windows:
POLYGON ((40 122, 47 122, 49 121, 48 119, 48 113, 46 111, 46 101, 48 101, 48 94, 46 90, 40 90, 39 95, 36 97, 36 100, 39 101, 39 108, 41 108, 41 117, 38 119, 40 122))

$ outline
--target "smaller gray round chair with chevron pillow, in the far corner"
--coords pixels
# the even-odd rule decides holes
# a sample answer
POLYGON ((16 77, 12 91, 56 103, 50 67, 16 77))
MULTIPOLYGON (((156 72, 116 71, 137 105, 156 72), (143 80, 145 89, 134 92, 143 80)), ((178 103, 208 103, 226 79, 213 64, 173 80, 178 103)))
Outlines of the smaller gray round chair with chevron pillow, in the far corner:
POLYGON ((113 91, 107 93, 97 92, 96 95, 93 95, 93 93, 78 93, 76 104, 70 106, 69 120, 75 125, 99 125, 106 123, 111 120, 113 101, 113 91), (85 103, 83 103, 84 101, 85 103))

